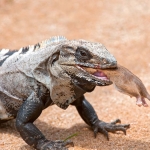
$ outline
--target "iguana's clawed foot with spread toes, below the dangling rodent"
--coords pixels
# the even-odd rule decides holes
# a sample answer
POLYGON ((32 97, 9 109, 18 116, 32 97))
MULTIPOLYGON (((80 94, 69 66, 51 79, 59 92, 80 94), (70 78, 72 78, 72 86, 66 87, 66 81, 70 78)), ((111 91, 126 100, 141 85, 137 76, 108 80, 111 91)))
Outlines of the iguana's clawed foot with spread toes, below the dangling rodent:
POLYGON ((103 121, 98 120, 95 125, 92 127, 94 131, 94 136, 96 137, 98 132, 101 132, 106 136, 107 140, 109 140, 108 132, 116 132, 116 131, 122 131, 126 135, 126 130, 130 128, 130 124, 119 124, 121 123, 120 119, 116 119, 115 121, 111 123, 106 123, 103 121))

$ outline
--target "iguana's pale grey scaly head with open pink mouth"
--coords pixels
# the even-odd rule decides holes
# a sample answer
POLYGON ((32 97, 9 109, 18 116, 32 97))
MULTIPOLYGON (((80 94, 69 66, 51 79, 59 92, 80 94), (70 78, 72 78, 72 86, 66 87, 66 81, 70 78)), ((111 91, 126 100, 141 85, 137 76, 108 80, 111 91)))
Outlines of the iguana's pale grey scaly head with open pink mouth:
POLYGON ((57 53, 52 56, 52 64, 57 62, 57 66, 59 64, 75 84, 90 83, 95 86, 112 84, 102 69, 116 68, 117 61, 102 44, 85 40, 68 40, 62 42, 57 49, 57 53))

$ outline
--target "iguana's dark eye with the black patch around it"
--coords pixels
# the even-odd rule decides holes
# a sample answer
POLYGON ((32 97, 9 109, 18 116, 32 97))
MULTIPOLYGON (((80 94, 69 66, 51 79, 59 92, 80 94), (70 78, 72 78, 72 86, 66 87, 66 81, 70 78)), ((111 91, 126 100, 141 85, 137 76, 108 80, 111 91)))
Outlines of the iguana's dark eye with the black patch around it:
POLYGON ((83 48, 77 48, 76 50, 76 54, 75 54, 75 57, 79 60, 83 60, 83 61, 86 61, 86 60, 89 60, 92 58, 92 55, 90 54, 90 52, 86 49, 83 49, 83 48))

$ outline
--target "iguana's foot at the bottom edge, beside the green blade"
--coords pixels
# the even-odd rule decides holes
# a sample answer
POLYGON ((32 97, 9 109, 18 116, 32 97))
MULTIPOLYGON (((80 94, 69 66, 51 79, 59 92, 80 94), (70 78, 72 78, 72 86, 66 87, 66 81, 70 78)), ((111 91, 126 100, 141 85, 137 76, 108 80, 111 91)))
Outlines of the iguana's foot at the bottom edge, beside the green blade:
POLYGON ((43 141, 38 145, 37 150, 68 150, 71 146, 73 147, 74 144, 70 140, 43 141))

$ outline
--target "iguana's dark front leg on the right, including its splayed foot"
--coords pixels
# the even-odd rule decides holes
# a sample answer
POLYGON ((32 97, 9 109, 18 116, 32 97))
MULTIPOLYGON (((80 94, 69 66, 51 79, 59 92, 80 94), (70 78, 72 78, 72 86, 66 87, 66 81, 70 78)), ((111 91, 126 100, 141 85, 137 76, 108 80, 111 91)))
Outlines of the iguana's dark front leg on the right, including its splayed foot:
POLYGON ((74 101, 72 105, 76 106, 81 118, 92 127, 95 137, 98 132, 101 132, 109 140, 108 132, 123 131, 126 134, 126 130, 130 127, 129 124, 117 125, 116 123, 121 123, 119 119, 111 123, 99 120, 94 108, 84 96, 74 101))

